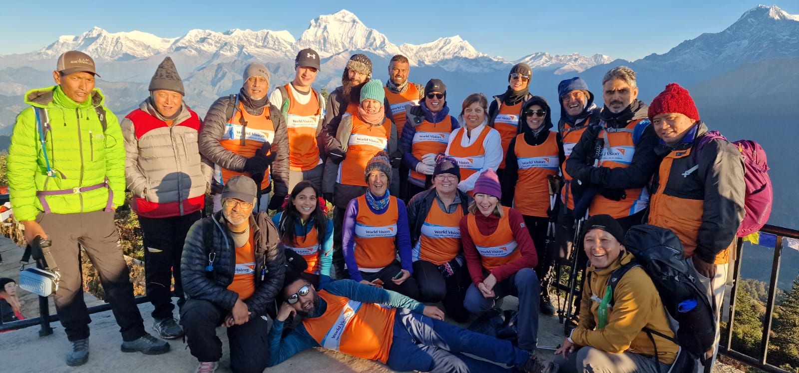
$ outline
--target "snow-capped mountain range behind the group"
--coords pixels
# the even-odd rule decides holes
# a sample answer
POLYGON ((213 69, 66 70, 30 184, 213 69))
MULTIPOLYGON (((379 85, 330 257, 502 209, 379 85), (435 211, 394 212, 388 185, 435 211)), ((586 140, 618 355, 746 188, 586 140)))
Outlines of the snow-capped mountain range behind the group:
POLYGON ((110 109, 120 115, 146 97, 153 70, 170 56, 185 81, 186 102, 202 115, 217 97, 237 92, 241 71, 249 62, 267 65, 272 86, 290 81, 296 51, 305 47, 315 49, 321 57, 317 89, 332 90, 340 85, 351 54, 372 58, 373 77, 381 80, 388 78, 388 59, 403 54, 411 62, 411 81, 423 84, 438 77, 447 83, 454 113, 469 93, 502 93, 507 72, 517 62, 531 65, 531 92, 549 99, 555 119, 559 112, 557 85, 564 78, 583 77, 599 105, 602 76, 614 66, 629 65, 636 71, 639 98, 647 102, 667 83, 676 81, 690 89, 702 118, 711 127, 735 139, 752 138, 765 145, 775 192, 785 201, 775 207, 772 221, 799 226, 795 213, 799 200, 789 197, 789 185, 799 183, 794 165, 797 157, 790 150, 797 137, 793 126, 783 125, 799 117, 799 16, 777 6, 756 6, 725 30, 698 35, 665 54, 635 61, 543 51, 511 61, 481 53, 457 35, 420 45, 396 44, 348 10, 312 19, 300 38, 285 30, 189 30, 178 38, 161 38, 141 31, 109 33, 94 27, 78 36, 62 36, 30 53, 0 56, 0 134, 10 133, 16 113, 24 108, 23 93, 53 84, 50 71, 66 50, 82 50, 96 59, 102 76, 97 86, 103 89, 110 109))

